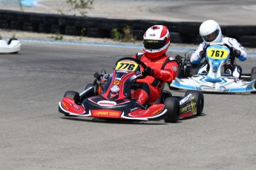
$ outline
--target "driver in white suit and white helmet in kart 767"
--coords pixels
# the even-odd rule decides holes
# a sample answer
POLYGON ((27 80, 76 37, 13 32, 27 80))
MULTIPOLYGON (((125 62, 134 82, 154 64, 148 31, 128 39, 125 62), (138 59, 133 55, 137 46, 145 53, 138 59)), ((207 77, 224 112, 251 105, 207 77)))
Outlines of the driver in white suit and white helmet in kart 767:
MULTIPOLYGON (((240 78, 242 68, 235 64, 234 59, 238 58, 240 61, 246 61, 246 49, 234 38, 223 37, 220 25, 214 20, 204 21, 199 28, 203 42, 199 45, 198 49, 191 55, 191 64, 199 64, 203 58, 206 57, 206 47, 211 43, 223 43, 230 47, 229 61, 224 64, 224 72, 232 74, 235 78, 240 78)), ((198 74, 208 73, 209 66, 204 62, 202 67, 198 70, 198 74)))

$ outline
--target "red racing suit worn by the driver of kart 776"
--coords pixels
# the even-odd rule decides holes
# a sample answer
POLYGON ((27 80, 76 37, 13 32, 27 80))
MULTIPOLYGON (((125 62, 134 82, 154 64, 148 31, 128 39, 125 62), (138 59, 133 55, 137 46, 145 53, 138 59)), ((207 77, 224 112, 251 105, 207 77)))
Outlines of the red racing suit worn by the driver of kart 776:
POLYGON ((146 76, 143 79, 137 79, 137 83, 148 84, 150 90, 150 94, 148 94, 148 103, 157 101, 161 94, 163 83, 171 83, 178 74, 177 60, 165 54, 158 58, 148 58, 145 53, 137 53, 133 58, 139 59, 145 63, 147 67, 154 69, 154 75, 146 76))

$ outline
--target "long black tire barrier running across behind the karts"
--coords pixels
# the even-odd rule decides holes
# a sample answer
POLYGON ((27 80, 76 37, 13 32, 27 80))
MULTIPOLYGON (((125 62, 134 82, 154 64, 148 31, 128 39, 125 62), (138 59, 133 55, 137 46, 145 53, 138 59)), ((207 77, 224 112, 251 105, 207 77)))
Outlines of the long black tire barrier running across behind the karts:
MULTIPOLYGON (((163 24, 171 33, 172 43, 200 44, 200 22, 155 21, 140 19, 91 18, 87 16, 62 16, 48 13, 24 13, 0 10, 0 28, 23 30, 36 33, 58 33, 62 35, 88 36, 92 38, 113 38, 116 28, 123 33, 126 27, 136 40, 148 27, 163 24)), ((256 25, 220 25, 223 35, 236 38, 244 47, 256 47, 256 25)))

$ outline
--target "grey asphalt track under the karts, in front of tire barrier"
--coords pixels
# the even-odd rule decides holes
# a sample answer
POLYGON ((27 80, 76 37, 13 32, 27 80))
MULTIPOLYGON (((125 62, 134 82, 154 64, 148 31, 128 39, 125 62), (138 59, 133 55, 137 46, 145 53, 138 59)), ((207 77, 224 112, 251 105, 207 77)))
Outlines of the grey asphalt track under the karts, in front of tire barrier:
MULTIPOLYGON (((178 123, 58 112, 67 90, 82 92, 94 72, 138 51, 26 42, 1 54, 0 169, 255 169, 255 94, 204 94, 203 115, 178 123)), ((256 58, 239 64, 249 72, 256 58)))

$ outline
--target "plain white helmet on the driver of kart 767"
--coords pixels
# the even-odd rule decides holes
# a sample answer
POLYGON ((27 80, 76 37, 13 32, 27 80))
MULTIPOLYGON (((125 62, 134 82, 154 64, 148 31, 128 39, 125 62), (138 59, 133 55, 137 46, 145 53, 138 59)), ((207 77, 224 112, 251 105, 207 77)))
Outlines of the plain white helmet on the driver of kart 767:
POLYGON ((206 44, 218 43, 223 38, 220 25, 214 20, 204 21, 200 25, 199 33, 206 44))

